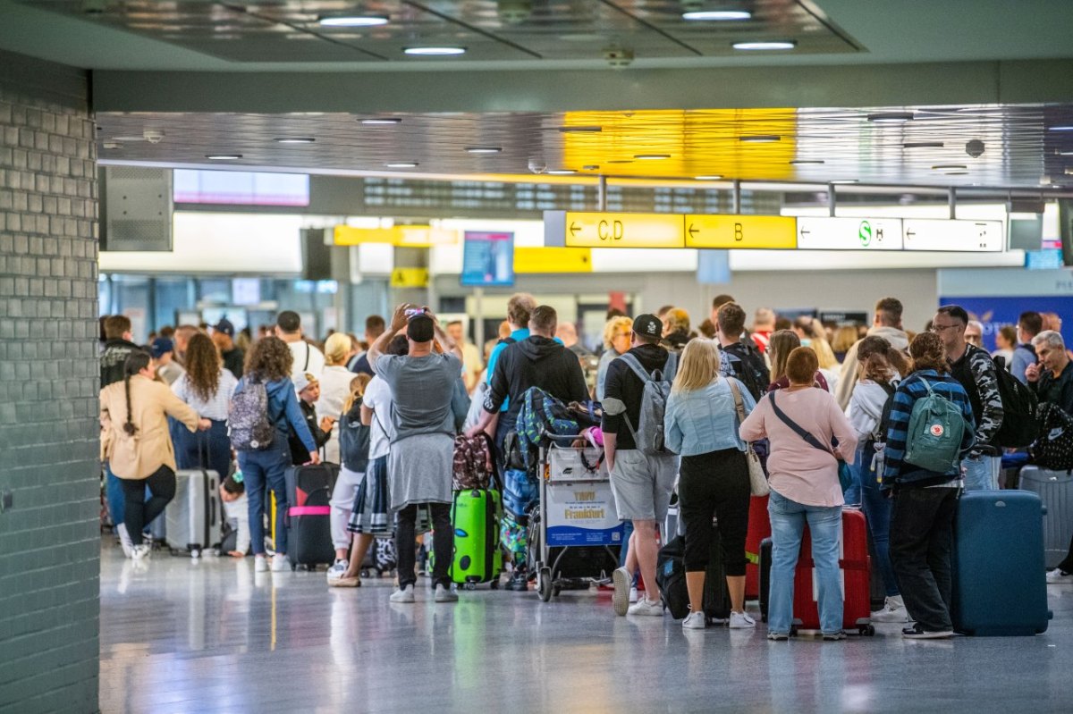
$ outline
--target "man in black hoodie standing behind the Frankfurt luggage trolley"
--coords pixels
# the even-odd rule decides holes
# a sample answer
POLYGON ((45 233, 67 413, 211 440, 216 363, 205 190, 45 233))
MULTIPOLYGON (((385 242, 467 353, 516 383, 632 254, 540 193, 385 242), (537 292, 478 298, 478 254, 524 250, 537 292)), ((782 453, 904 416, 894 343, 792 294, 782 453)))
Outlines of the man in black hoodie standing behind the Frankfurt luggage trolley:
POLYGON ((469 433, 484 431, 499 415, 496 425, 496 446, 502 448, 506 432, 521 410, 521 396, 530 387, 540 387, 563 403, 584 402, 589 398, 577 356, 555 341, 558 315, 554 308, 539 306, 529 316, 529 337, 508 345, 499 358, 491 383, 484 396, 481 420, 469 433), (505 412, 499 407, 510 398, 505 412))

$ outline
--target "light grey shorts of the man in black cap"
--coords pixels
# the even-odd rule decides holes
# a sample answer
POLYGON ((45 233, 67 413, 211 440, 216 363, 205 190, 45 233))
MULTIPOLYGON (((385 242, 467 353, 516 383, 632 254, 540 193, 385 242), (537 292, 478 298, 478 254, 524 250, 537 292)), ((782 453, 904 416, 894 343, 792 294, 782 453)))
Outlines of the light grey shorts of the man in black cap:
POLYGON ((676 456, 649 456, 641 449, 616 451, 611 490, 619 520, 662 523, 677 475, 676 456))

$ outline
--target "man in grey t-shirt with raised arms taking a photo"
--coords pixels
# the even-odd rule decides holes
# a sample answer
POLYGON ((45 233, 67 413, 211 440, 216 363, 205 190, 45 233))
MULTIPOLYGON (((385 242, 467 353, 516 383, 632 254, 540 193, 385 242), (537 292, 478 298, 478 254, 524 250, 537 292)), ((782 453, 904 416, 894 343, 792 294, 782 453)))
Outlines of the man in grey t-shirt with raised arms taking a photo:
POLYGON ((417 507, 427 505, 432 516, 432 551, 436 564, 431 585, 437 603, 453 603, 451 566, 454 530, 451 526, 451 468, 454 458, 454 416, 451 396, 461 378, 461 351, 440 328, 428 308, 401 304, 392 326, 369 347, 369 365, 392 390, 395 435, 387 453, 391 507, 397 511, 395 545, 399 589, 393 603, 413 603, 414 538, 417 507), (409 352, 385 355, 396 333, 406 329, 409 352), (437 345, 439 351, 437 351, 437 345))

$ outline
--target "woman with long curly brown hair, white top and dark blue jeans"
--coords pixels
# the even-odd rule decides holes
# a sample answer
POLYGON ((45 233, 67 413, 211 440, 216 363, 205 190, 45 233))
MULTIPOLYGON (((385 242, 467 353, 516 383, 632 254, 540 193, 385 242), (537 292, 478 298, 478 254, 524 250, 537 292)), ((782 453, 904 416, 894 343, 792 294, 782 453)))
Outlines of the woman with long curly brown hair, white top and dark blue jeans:
POLYGON ((175 396, 211 422, 205 432, 183 433, 175 438, 175 460, 179 468, 210 468, 222 481, 231 471, 231 441, 227 438, 227 405, 238 380, 223 368, 212 338, 197 332, 187 345, 186 372, 172 385, 175 396))

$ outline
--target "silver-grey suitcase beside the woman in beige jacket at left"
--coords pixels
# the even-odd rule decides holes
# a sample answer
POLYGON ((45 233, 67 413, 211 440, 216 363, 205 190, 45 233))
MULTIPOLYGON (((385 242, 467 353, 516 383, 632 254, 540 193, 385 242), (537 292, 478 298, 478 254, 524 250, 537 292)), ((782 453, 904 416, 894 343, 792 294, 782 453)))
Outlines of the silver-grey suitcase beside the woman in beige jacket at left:
POLYGON ((220 476, 215 471, 183 468, 175 473, 175 499, 164 509, 167 546, 199 557, 220 542, 220 476))

